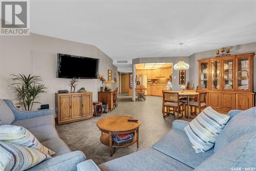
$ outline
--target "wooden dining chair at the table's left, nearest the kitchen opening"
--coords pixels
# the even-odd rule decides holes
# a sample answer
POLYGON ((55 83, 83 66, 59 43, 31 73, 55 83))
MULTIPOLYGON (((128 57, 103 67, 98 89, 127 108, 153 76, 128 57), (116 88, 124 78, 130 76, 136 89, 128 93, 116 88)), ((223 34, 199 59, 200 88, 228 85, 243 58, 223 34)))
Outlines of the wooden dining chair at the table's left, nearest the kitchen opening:
POLYGON ((166 117, 168 115, 174 115, 175 112, 177 112, 177 119, 180 119, 183 117, 183 113, 181 113, 181 106, 182 102, 180 102, 179 99, 179 93, 178 92, 163 92, 163 117, 166 117), (165 108, 166 108, 166 114, 165 114, 165 108), (173 113, 170 113, 170 108, 173 108, 173 113), (181 114, 181 117, 179 117, 179 114, 181 114))

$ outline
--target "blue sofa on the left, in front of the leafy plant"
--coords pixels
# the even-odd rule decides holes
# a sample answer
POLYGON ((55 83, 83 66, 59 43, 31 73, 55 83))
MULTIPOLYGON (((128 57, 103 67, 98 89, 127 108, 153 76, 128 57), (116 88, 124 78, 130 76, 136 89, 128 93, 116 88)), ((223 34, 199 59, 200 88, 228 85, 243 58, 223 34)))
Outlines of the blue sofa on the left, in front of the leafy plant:
POLYGON ((53 114, 52 110, 20 111, 10 100, 0 99, 0 124, 25 127, 43 145, 56 153, 51 159, 42 161, 28 170, 73 171, 77 170, 78 163, 86 160, 81 151, 71 152, 68 145, 59 138, 53 114))

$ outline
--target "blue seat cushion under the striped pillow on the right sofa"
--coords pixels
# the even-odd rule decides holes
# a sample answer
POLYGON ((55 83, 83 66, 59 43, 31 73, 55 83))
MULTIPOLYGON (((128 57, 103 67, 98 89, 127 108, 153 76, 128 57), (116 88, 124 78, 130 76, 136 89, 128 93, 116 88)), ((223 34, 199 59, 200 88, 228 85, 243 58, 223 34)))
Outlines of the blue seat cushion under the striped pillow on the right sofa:
POLYGON ((213 148, 205 153, 195 153, 195 149, 191 146, 186 133, 177 129, 167 133, 153 145, 153 148, 192 168, 195 168, 214 154, 213 148))

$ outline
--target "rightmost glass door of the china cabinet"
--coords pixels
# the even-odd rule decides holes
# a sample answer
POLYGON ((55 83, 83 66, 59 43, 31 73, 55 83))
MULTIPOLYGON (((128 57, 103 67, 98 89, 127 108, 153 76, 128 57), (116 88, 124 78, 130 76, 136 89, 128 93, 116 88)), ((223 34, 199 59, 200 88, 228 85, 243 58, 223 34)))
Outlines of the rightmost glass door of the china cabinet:
POLYGON ((249 90, 249 58, 238 58, 238 90, 249 90))

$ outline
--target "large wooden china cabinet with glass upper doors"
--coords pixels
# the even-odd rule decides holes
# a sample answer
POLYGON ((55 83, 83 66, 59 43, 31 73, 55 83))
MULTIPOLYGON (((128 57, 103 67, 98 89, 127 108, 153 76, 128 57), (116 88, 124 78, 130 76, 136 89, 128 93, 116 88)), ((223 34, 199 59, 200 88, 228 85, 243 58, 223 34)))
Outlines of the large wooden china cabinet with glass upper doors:
POLYGON ((198 60, 198 92, 207 92, 207 106, 227 114, 254 106, 254 53, 198 60))

